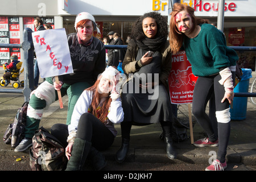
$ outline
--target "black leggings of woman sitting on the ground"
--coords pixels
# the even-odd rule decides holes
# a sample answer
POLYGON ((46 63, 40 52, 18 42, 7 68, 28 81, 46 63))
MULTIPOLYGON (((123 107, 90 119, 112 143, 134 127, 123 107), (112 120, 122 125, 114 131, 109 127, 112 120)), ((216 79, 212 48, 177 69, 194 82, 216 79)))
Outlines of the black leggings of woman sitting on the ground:
MULTIPOLYGON (((59 139, 64 147, 68 145, 68 125, 53 125, 51 134, 59 139)), ((106 150, 106 148, 110 147, 114 142, 114 135, 108 127, 90 113, 81 115, 77 126, 76 137, 91 142, 92 146, 97 150, 106 150)))

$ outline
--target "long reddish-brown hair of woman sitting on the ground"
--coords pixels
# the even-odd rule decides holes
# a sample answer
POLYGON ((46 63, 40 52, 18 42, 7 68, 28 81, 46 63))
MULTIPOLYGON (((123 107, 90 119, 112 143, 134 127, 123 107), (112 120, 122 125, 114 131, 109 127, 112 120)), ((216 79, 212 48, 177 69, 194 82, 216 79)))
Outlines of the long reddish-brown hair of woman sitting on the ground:
MULTIPOLYGON (((102 123, 106 122, 106 117, 109 113, 109 107, 112 102, 112 98, 108 97, 102 104, 100 105, 100 93, 98 92, 98 84, 100 83, 100 79, 102 76, 98 77, 97 81, 94 83, 93 86, 85 89, 85 90, 90 90, 93 92, 93 97, 92 97, 92 103, 90 104, 90 113, 93 115, 96 115, 98 119, 102 123), (97 110, 97 107, 100 106, 100 110, 97 110)), ((110 94, 110 93, 109 93, 110 94)))

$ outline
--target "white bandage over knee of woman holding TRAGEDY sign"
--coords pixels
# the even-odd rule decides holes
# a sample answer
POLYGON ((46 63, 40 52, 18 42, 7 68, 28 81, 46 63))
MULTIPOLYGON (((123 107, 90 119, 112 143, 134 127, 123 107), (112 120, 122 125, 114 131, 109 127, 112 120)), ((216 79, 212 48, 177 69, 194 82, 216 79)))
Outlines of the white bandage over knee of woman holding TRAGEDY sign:
POLYGON ((52 84, 47 81, 44 81, 42 84, 36 88, 33 92, 36 97, 46 101, 46 107, 44 109, 48 109, 49 105, 55 102, 55 89, 52 84))

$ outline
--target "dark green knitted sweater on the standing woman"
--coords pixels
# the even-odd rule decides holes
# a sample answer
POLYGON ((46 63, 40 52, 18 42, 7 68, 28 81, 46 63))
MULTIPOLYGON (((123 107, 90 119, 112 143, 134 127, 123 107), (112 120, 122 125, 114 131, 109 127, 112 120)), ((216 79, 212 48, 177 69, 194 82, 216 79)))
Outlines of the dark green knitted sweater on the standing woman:
POLYGON ((211 24, 200 24, 199 34, 190 39, 184 36, 183 47, 195 76, 209 76, 220 68, 236 65, 238 56, 226 46, 225 35, 211 24))

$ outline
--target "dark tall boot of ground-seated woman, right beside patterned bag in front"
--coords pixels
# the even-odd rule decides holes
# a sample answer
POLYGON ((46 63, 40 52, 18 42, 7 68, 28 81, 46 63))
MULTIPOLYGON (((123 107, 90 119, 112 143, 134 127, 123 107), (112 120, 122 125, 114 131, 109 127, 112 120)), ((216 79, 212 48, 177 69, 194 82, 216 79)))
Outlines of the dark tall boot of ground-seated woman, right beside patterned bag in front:
POLYGON ((72 147, 71 157, 68 160, 66 171, 81 171, 89 154, 92 143, 76 138, 72 147))

